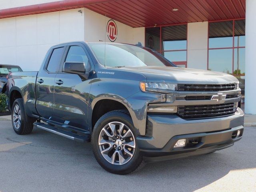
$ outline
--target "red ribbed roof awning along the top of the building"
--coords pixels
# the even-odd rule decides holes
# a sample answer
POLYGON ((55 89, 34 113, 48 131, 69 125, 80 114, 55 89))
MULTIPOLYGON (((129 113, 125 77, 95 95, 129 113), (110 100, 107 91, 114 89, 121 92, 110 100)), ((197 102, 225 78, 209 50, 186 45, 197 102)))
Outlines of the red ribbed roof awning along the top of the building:
POLYGON ((0 10, 0 18, 88 8, 132 27, 245 18, 246 0, 62 0, 0 10), (173 9, 178 11, 173 11, 173 9))

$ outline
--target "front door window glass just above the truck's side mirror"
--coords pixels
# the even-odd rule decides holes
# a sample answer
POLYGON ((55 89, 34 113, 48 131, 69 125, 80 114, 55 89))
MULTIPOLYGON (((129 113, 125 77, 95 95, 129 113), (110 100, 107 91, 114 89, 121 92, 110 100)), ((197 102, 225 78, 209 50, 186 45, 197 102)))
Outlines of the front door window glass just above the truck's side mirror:
POLYGON ((65 62, 83 62, 85 64, 86 72, 91 69, 88 56, 80 46, 70 46, 65 62))

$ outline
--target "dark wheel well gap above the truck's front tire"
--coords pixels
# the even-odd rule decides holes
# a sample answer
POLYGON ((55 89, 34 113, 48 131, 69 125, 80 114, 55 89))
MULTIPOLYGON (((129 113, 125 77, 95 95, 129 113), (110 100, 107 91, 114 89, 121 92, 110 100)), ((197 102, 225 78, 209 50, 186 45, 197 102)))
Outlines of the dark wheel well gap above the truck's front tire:
MULTIPOLYGON (((114 110, 127 110, 124 104, 110 99, 103 99, 98 101, 92 111, 92 128, 99 120, 101 116, 106 114, 107 112, 114 111, 114 110)), ((128 110, 127 110, 128 111, 128 110)))

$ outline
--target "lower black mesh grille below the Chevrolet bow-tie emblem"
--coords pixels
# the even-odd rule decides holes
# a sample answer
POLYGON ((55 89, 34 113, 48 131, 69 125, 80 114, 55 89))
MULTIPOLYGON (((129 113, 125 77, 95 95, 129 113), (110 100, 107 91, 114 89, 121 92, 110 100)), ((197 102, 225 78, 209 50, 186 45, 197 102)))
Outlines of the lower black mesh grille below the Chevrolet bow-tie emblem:
POLYGON ((230 116, 236 112, 236 103, 178 106, 178 115, 186 120, 230 116))

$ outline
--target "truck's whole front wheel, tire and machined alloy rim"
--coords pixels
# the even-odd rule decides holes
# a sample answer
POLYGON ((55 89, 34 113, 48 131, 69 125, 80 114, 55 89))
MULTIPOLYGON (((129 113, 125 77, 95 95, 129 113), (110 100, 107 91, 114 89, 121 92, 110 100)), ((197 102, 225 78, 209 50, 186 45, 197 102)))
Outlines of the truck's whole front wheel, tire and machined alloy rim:
POLYGON ((142 163, 132 118, 121 111, 108 112, 97 121, 92 147, 100 166, 114 174, 128 174, 142 163))

